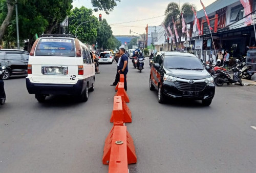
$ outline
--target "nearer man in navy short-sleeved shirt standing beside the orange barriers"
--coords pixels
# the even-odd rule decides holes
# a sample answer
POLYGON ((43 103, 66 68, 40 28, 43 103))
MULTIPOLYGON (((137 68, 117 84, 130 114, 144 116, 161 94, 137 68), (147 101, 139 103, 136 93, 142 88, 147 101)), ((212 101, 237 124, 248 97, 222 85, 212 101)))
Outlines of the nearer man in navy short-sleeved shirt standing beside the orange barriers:
POLYGON ((121 55, 118 73, 124 76, 124 90, 127 91, 126 74, 128 73, 128 57, 124 54, 125 49, 121 48, 119 54, 121 55))

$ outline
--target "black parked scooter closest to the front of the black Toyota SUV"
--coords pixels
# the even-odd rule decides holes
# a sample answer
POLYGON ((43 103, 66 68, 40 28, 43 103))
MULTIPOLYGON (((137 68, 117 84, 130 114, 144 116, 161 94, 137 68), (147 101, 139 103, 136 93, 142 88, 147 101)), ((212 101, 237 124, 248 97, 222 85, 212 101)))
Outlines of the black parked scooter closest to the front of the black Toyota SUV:
POLYGON ((241 70, 238 68, 238 66, 232 68, 233 71, 233 79, 230 77, 229 72, 224 70, 217 70, 215 73, 215 79, 214 82, 218 87, 221 87, 224 83, 227 83, 228 85, 230 83, 237 83, 239 82, 241 86, 243 86, 243 82, 241 80, 240 74, 241 70))

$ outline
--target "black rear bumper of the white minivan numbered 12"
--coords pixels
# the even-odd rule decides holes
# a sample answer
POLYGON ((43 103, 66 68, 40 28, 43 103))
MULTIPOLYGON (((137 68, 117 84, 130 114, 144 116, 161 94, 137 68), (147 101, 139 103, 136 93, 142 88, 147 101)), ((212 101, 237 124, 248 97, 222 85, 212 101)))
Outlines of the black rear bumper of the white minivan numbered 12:
POLYGON ((86 80, 80 79, 75 84, 34 83, 26 78, 29 94, 42 95, 80 95, 86 88, 86 80))

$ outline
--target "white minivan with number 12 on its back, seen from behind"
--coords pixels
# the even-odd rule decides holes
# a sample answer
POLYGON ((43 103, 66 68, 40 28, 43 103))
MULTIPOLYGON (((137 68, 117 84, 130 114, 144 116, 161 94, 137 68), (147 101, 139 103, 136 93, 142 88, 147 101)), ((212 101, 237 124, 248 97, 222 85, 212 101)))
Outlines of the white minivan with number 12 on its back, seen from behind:
POLYGON ((76 95, 87 101, 94 91, 95 66, 90 50, 72 35, 41 35, 31 49, 26 85, 38 102, 49 95, 76 95))

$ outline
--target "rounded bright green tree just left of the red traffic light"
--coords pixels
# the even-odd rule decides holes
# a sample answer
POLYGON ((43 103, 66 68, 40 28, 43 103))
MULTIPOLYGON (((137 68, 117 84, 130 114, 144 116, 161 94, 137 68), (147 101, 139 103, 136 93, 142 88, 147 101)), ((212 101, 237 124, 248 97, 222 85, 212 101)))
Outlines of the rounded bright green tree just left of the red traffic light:
POLYGON ((92 10, 86 7, 75 8, 71 11, 72 17, 69 19, 70 33, 76 34, 79 40, 86 44, 94 44, 97 40, 99 21, 92 14, 92 10))

